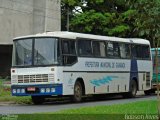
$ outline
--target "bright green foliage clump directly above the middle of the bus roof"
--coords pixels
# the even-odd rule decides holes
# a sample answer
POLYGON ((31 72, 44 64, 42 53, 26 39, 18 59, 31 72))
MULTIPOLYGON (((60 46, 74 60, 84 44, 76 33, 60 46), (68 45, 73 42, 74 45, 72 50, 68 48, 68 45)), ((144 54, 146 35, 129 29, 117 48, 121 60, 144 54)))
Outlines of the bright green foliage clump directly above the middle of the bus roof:
POLYGON ((71 21, 71 30, 83 33, 115 35, 124 37, 130 30, 124 21, 131 19, 134 10, 129 10, 117 17, 116 13, 100 13, 95 10, 76 15, 71 21))

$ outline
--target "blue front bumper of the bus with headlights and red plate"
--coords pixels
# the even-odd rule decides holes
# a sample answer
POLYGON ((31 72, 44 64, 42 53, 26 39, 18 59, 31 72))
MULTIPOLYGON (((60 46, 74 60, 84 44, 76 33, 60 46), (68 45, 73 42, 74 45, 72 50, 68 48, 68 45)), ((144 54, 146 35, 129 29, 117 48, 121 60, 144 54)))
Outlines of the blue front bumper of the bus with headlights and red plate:
POLYGON ((62 95, 62 84, 12 85, 12 96, 62 95))

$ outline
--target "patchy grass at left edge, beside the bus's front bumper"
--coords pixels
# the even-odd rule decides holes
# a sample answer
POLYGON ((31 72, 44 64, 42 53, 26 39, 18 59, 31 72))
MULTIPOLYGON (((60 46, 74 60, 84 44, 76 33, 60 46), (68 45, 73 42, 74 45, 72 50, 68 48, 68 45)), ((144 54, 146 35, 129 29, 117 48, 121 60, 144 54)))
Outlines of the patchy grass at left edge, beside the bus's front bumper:
POLYGON ((16 97, 11 95, 11 88, 4 86, 4 79, 0 79, 0 102, 13 102, 16 104, 32 104, 31 97, 16 97))

